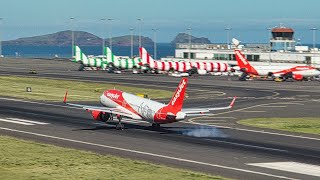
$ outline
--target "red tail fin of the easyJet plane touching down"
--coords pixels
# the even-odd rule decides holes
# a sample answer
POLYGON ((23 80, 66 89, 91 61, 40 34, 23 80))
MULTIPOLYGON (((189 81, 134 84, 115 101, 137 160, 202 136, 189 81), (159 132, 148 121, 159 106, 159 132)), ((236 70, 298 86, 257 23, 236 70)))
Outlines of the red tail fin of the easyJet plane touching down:
POLYGON ((187 84, 188 84, 188 78, 182 78, 179 86, 176 89, 176 92, 172 96, 168 107, 174 109, 175 111, 181 111, 183 101, 184 101, 184 95, 187 89, 187 84))

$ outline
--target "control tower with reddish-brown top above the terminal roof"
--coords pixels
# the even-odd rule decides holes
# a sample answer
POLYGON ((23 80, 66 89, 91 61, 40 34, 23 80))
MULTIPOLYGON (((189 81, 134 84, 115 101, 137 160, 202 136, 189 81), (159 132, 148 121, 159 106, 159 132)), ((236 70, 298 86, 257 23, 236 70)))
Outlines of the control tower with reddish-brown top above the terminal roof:
POLYGON ((271 31, 270 40, 271 51, 294 51, 296 41, 293 38, 294 31, 291 28, 275 27, 271 31))

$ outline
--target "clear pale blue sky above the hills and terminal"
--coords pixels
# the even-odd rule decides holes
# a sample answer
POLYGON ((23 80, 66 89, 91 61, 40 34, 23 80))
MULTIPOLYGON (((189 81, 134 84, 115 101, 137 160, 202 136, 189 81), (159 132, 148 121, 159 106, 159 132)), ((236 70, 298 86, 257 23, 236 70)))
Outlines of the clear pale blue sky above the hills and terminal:
MULTIPOLYGON (((267 28, 282 23, 295 30, 301 43, 312 43, 310 28, 320 29, 319 7, 319 0, 1 0, 0 38, 70 29, 106 38, 110 32, 112 36, 129 35, 130 28, 138 35, 141 25, 141 34, 152 39, 152 29, 158 29, 157 42, 170 42, 191 28, 193 36, 223 43, 227 41, 225 28, 230 27, 230 39, 266 43, 270 37, 267 28)), ((316 42, 320 43, 318 39, 319 30, 316 42)))

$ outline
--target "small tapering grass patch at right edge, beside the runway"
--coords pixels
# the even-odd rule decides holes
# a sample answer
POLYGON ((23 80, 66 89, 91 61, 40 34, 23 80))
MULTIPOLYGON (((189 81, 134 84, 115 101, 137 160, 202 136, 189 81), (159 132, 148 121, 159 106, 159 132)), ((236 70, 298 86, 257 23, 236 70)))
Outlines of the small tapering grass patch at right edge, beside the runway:
POLYGON ((269 128, 290 132, 320 135, 320 117, 312 118, 256 118, 238 122, 242 125, 269 128))

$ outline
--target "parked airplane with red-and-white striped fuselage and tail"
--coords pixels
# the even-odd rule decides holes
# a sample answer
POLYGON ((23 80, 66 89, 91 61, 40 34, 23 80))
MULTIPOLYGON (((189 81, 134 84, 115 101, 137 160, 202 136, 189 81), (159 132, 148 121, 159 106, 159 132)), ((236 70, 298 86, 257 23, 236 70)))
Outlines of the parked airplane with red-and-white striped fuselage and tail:
POLYGON ((227 72, 231 68, 227 63, 219 62, 177 62, 177 61, 158 61, 154 60, 145 48, 140 48, 140 57, 145 65, 149 66, 150 69, 158 71, 170 71, 174 70, 177 72, 190 72, 197 71, 199 74, 206 74, 207 72, 227 72))

